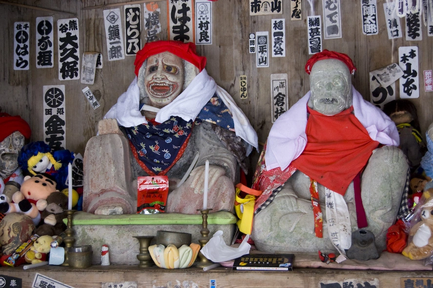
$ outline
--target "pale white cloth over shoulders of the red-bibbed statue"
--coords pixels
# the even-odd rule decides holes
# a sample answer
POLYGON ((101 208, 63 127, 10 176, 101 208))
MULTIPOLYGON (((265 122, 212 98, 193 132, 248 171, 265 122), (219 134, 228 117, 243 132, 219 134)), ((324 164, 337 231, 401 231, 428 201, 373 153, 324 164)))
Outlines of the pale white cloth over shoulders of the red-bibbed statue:
MULTIPOLYGON (((307 103, 311 91, 283 113, 272 125, 265 153, 266 169, 286 169, 301 155, 307 144, 307 103)), ((365 101, 352 85, 353 113, 366 128, 370 137, 384 145, 398 146, 397 127, 378 107, 365 101)))

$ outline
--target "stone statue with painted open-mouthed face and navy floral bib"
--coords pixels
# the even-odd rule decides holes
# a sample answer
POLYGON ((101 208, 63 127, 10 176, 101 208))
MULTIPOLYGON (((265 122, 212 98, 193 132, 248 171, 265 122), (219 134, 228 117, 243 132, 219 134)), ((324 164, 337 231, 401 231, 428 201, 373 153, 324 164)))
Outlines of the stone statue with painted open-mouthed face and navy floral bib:
POLYGON ((203 207, 206 160, 208 207, 232 210, 239 167, 257 148, 246 116, 207 75, 193 43, 146 43, 134 64, 137 77, 86 145, 83 210, 136 213, 137 177, 167 175, 165 212, 195 214, 203 207))

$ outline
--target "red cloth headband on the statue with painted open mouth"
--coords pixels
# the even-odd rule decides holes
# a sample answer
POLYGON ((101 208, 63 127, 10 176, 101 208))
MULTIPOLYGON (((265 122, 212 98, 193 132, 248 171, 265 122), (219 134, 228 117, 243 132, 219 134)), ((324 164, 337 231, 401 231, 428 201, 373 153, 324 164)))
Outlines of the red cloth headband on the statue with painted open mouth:
POLYGON ((206 66, 206 57, 198 56, 195 52, 195 44, 192 42, 184 43, 181 41, 154 41, 144 44, 143 49, 137 52, 135 57, 135 75, 138 76, 143 62, 152 55, 162 52, 170 52, 180 58, 194 64, 200 71, 206 66))

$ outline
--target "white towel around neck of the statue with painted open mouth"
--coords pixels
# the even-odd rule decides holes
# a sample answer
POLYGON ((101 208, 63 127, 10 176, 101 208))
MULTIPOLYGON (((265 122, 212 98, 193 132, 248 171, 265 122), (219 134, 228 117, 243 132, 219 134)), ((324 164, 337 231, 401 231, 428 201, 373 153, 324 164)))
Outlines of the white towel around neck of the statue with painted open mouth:
MULTIPOLYGON (((155 121, 163 123, 170 116, 179 116, 186 121, 193 120, 215 92, 230 110, 236 135, 258 149, 257 133, 244 112, 236 105, 227 91, 218 86, 215 80, 207 74, 206 69, 197 74, 176 99, 159 110, 155 121)), ((131 82, 126 92, 119 97, 117 103, 105 114, 104 119, 109 118, 116 119, 117 123, 124 127, 147 123, 146 118, 140 112, 140 89, 137 85, 137 77, 131 82)))

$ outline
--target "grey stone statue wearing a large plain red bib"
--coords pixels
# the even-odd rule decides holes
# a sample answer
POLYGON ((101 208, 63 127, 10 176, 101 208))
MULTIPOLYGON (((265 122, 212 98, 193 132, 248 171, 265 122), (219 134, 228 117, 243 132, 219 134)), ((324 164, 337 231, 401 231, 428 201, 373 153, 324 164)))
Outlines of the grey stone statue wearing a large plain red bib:
POLYGON ((381 251, 408 175, 395 124, 351 85, 346 54, 317 53, 306 71, 310 91, 273 124, 259 160, 251 237, 267 252, 345 254, 365 228, 381 251))

